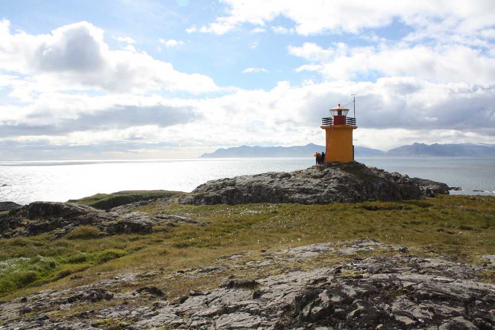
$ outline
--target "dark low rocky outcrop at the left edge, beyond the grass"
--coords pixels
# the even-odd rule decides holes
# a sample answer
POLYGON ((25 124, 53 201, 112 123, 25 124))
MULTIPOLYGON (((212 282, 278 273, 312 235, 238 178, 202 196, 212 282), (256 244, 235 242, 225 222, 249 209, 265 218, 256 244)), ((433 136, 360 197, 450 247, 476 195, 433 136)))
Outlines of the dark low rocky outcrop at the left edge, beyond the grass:
POLYGON ((51 233, 60 237, 80 225, 94 226, 102 235, 149 234, 153 231, 153 226, 173 227, 177 222, 203 224, 181 216, 150 215, 126 209, 103 211, 77 203, 33 202, 0 216, 0 237, 32 236, 42 233, 51 233))

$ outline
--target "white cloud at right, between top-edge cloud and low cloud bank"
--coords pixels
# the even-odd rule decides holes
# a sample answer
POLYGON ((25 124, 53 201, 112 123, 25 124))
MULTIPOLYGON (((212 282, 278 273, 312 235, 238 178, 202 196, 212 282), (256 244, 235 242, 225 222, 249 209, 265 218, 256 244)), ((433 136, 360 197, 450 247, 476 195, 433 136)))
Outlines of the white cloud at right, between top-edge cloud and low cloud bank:
POLYGON ((288 47, 289 53, 313 64, 297 70, 317 70, 330 79, 355 75, 414 76, 433 82, 490 84, 495 76, 495 57, 463 45, 409 47, 407 44, 348 47, 338 43, 324 49, 313 43, 288 47))

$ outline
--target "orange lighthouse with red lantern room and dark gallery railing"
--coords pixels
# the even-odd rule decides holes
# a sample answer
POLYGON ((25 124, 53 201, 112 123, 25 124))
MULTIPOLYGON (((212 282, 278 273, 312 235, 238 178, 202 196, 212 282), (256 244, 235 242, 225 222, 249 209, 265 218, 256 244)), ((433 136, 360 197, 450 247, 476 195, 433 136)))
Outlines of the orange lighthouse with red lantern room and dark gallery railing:
POLYGON ((332 117, 322 118, 325 130, 325 162, 349 163, 354 161, 352 131, 357 128, 356 118, 347 117, 349 109, 340 104, 330 109, 332 117))

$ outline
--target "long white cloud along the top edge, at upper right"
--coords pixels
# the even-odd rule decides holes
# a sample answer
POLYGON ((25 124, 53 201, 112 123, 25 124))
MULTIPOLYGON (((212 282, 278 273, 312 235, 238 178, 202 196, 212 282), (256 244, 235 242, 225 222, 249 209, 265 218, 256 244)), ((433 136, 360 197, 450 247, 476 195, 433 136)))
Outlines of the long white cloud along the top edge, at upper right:
MULTIPOLYGON (((400 19, 407 25, 432 32, 455 31, 468 35, 494 25, 495 2, 474 1, 323 1, 298 0, 225 0, 226 15, 194 31, 225 34, 250 23, 264 27, 277 16, 295 23, 301 35, 325 32, 358 33, 400 19)), ((433 36, 434 33, 431 33, 433 36)))

